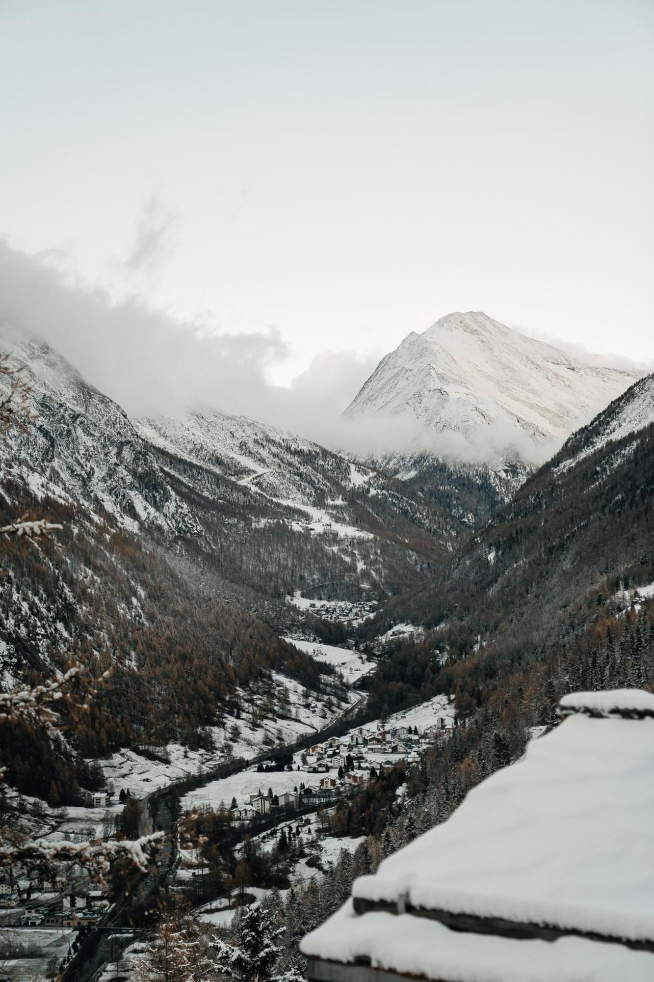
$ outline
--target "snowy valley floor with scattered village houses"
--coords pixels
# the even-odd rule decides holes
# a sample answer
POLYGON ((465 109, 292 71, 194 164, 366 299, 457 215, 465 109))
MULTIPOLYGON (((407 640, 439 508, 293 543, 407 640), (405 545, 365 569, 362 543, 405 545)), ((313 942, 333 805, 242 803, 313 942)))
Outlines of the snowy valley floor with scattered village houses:
MULTIPOLYGON (((318 606, 322 614, 320 602, 318 606)), ((369 613, 355 607, 352 605, 350 612, 354 617, 369 613)), ((345 613, 343 602, 336 605, 334 613, 337 611, 345 613)), ((404 629, 402 626, 401 632, 404 629)), ((154 831, 153 800, 171 787, 171 782, 186 780, 191 782, 191 790, 180 802, 182 825, 184 816, 199 815, 204 820, 215 816, 237 855, 249 855, 255 850, 278 856, 280 843, 283 848, 288 843, 288 884, 320 877, 334 866, 342 849, 354 852, 362 841, 361 836, 353 836, 340 827, 338 816, 335 820, 339 806, 401 762, 409 767, 417 764, 422 754, 454 726, 454 706, 446 696, 437 696, 386 721, 333 734, 335 727, 339 729, 339 719, 344 722, 356 711, 360 703, 357 683, 376 663, 349 644, 337 647, 315 639, 288 640, 336 670, 344 701, 326 709, 329 703, 324 698, 316 698, 297 683, 274 676, 272 685, 283 685, 288 690, 290 717, 286 722, 264 718, 263 734, 242 714, 238 720, 240 736, 236 739, 236 721, 226 720, 225 732, 228 728, 233 732, 232 743, 219 746, 218 753, 190 751, 175 744, 159 750, 143 747, 142 752, 120 750, 102 761, 106 786, 86 792, 83 804, 47 807, 36 799, 23 797, 17 798, 14 808, 26 815, 33 813, 33 828, 44 843, 64 839, 114 840, 130 831, 123 826, 125 815, 131 812, 135 822, 131 835, 154 831), (285 727, 285 742, 276 744, 271 737, 274 733, 279 739, 280 724, 285 727), (311 730, 316 734, 314 742, 310 740, 311 730), (320 738, 321 731, 330 735, 320 738), (266 733, 270 733, 267 739, 275 751, 270 756, 265 751, 266 733), (300 741, 300 748, 286 751, 285 745, 294 739, 300 741), (252 751, 253 757, 240 756, 252 751), (234 761, 232 773, 211 780, 220 761, 228 770, 230 761, 234 761)), ((253 714, 254 705, 250 711, 253 714)), ((223 884, 211 900, 212 888, 204 870, 201 850, 180 840, 178 859, 171 871, 172 889, 191 891, 199 904, 200 916, 217 926, 228 925, 240 903, 269 892, 269 888, 256 886, 248 877, 234 896, 231 886, 226 890, 223 884), (209 913, 205 909, 207 895, 209 913), (217 910, 212 909, 214 904, 217 910)), ((30 877, 17 868, 0 880, 5 951, 15 968, 22 963, 33 968, 37 962, 44 970, 61 968, 79 951, 90 931, 112 922, 115 900, 108 885, 93 883, 75 864, 62 866, 51 879, 30 877)))

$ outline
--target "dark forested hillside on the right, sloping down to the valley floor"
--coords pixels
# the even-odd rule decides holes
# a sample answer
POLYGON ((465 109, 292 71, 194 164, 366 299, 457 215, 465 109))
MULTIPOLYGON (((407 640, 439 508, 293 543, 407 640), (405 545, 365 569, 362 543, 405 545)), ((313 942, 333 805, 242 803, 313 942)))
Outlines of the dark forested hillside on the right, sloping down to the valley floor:
MULTIPOLYGON (((650 387, 651 377, 636 383, 574 434, 428 588, 359 628, 361 641, 395 620, 430 628, 380 667, 377 708, 451 691, 469 714, 517 673, 538 666, 546 678, 558 645, 573 647, 625 608, 625 591, 654 580, 654 423, 639 415, 644 425, 611 439, 616 413, 650 387)), ((583 660, 582 671, 598 682, 583 660)))

